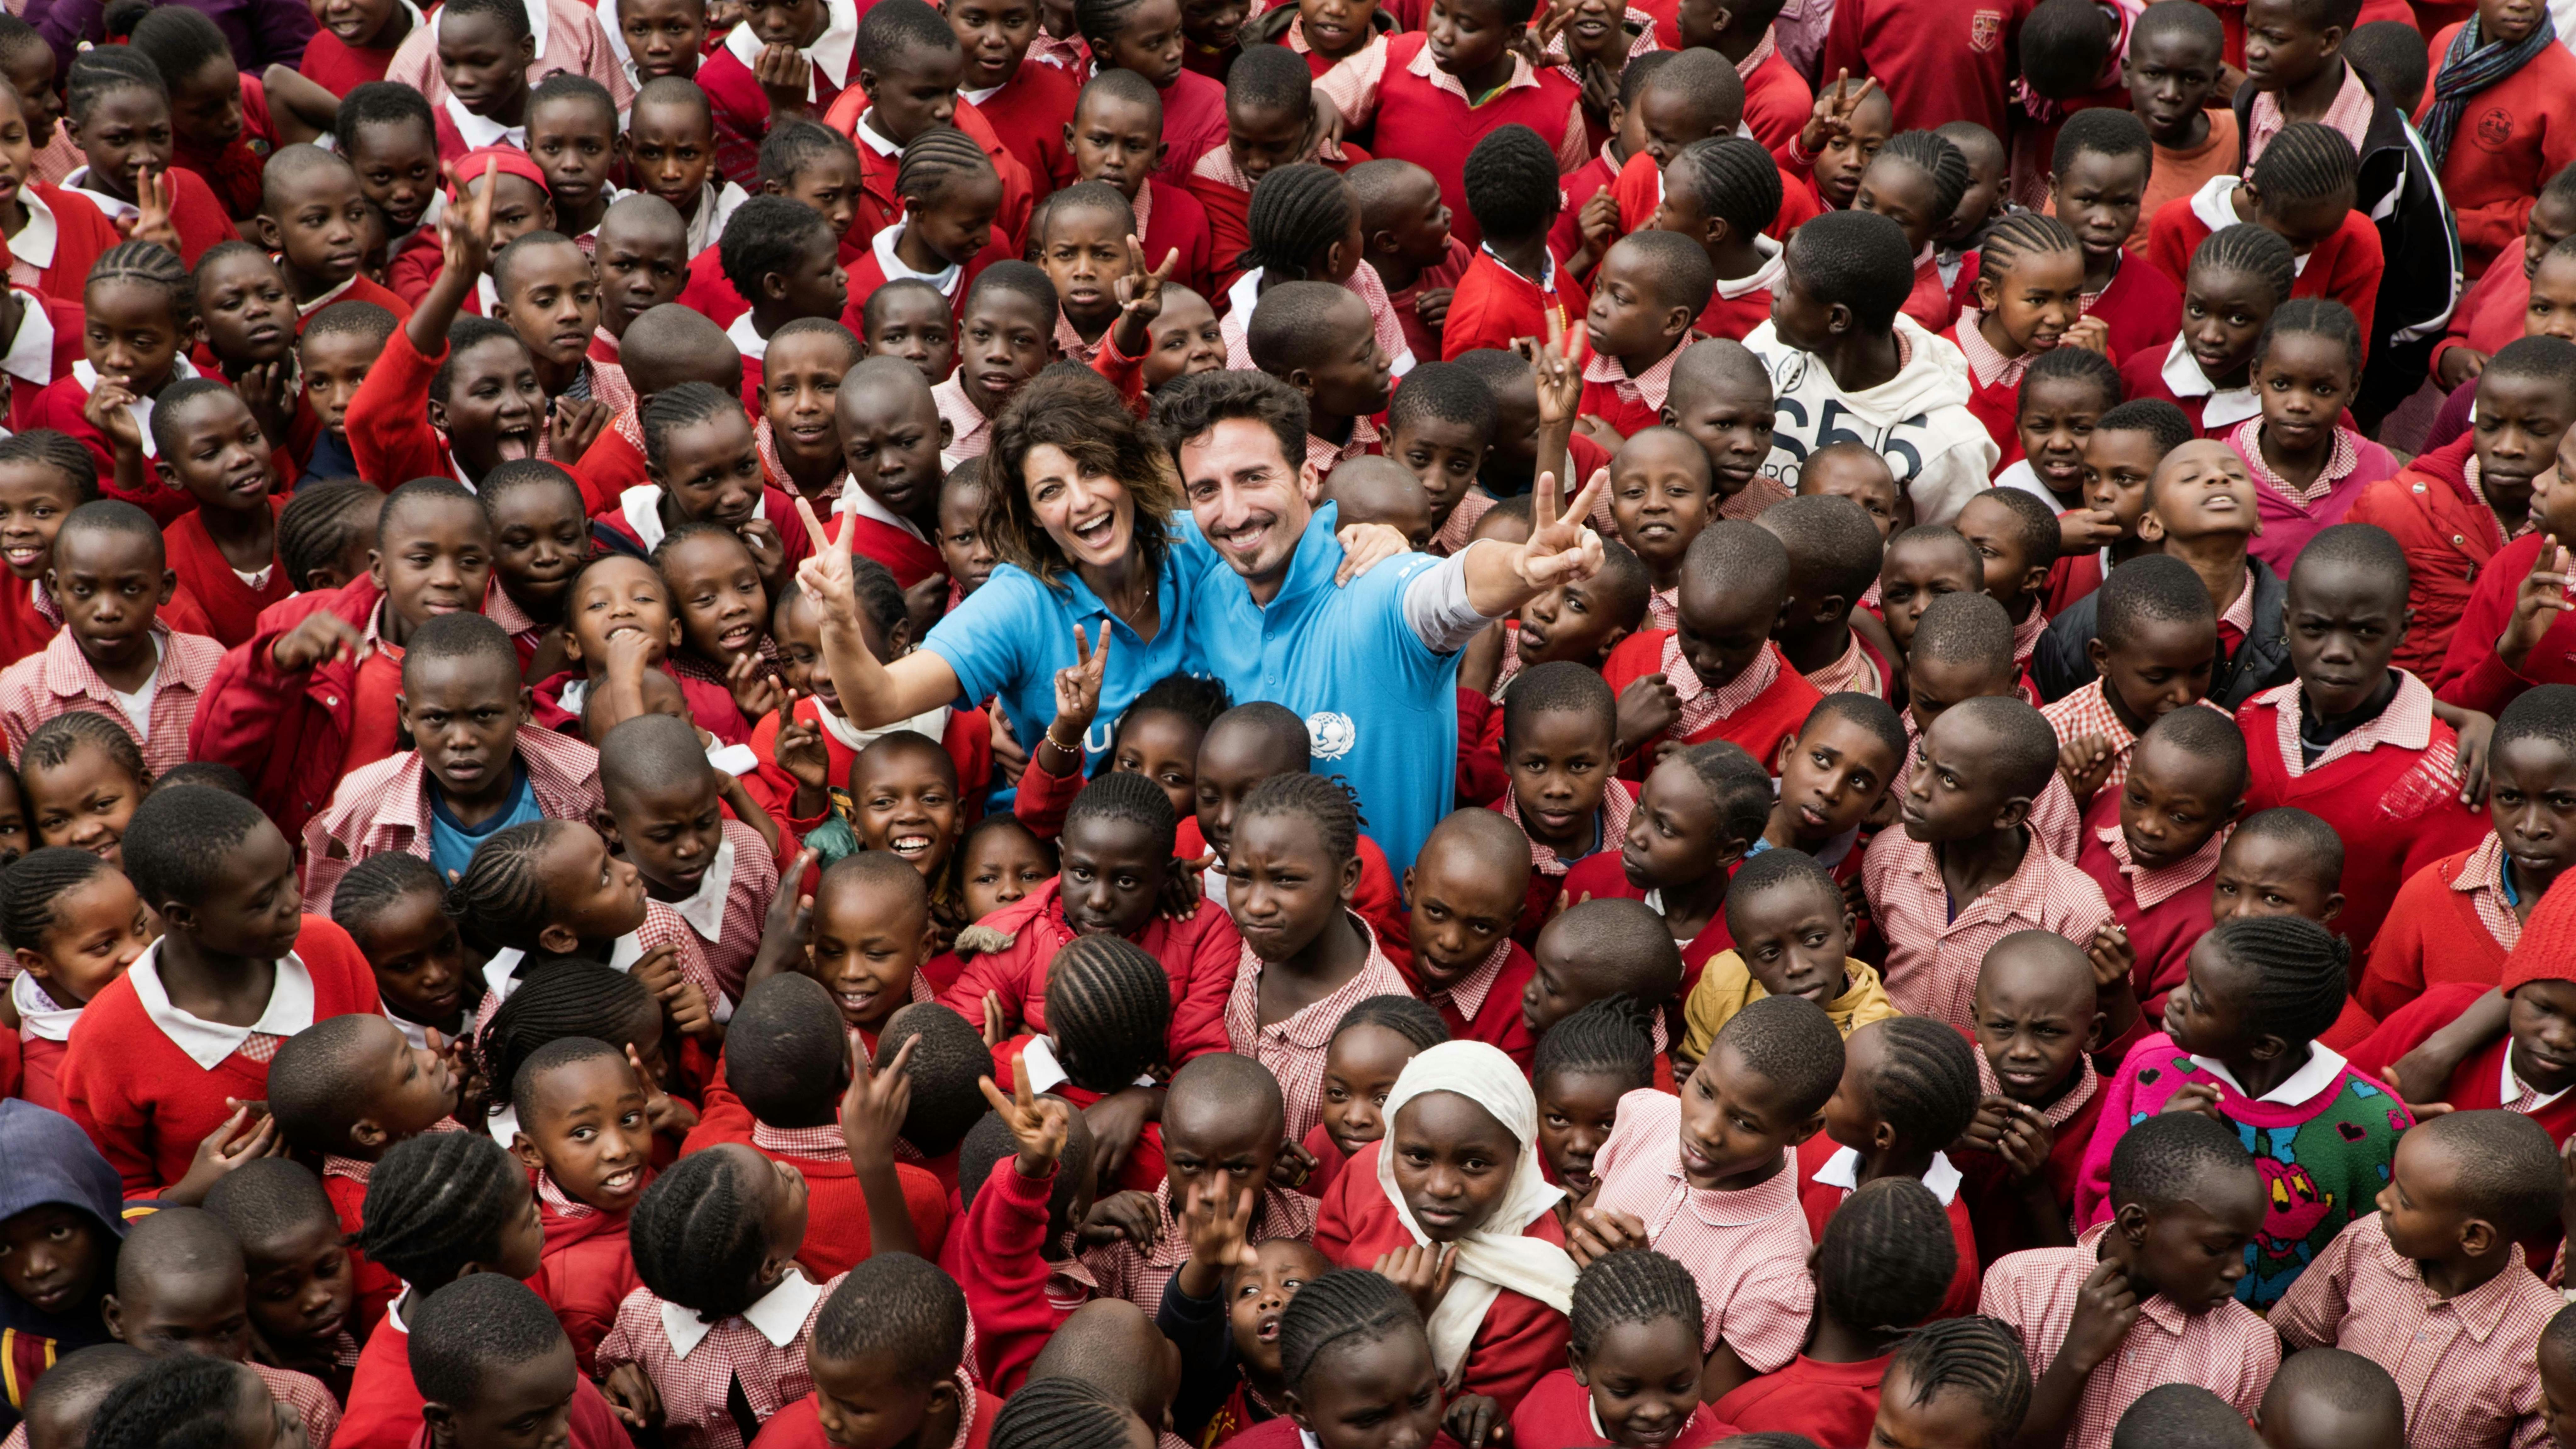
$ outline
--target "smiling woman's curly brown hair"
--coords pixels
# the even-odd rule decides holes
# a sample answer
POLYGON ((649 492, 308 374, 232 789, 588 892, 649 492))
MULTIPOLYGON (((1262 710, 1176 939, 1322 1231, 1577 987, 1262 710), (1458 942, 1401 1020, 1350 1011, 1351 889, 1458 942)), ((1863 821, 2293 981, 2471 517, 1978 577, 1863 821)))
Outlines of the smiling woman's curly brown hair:
POLYGON ((1172 454, 1126 407, 1118 389, 1079 364, 1054 364, 1020 389, 994 418, 992 451, 984 456, 984 539, 1007 565, 1018 565, 1048 588, 1074 567, 1064 549, 1038 526, 1028 503, 1028 454, 1051 443, 1084 472, 1115 477, 1136 503, 1136 549, 1149 572, 1162 572, 1172 552, 1170 518, 1182 511, 1172 454))

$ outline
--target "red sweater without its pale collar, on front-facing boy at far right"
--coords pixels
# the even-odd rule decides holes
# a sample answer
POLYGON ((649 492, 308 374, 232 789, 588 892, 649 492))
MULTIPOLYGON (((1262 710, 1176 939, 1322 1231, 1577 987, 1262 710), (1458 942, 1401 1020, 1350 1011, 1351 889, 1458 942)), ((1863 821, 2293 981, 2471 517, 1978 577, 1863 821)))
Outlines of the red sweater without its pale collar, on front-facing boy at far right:
POLYGON ((2486 812, 2460 804, 2460 781, 2452 779, 2460 737, 2439 719, 2421 750, 2354 750, 2290 779, 2280 758, 2282 704, 2272 699, 2287 688, 2257 694, 2236 709, 2251 766, 2246 815, 2295 804, 2334 825, 2344 841, 2344 913, 2334 926, 2354 954, 2367 957, 2398 884, 2432 861, 2476 846, 2488 828, 2486 812))

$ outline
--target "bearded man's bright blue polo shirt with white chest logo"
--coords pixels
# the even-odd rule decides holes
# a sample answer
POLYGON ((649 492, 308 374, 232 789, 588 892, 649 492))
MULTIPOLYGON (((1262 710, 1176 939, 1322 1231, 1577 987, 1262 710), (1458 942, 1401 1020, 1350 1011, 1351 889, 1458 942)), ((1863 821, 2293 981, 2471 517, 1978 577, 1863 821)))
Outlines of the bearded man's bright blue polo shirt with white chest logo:
POLYGON ((1458 655, 1435 655, 1404 621, 1406 585, 1440 559, 1399 554, 1334 588, 1337 518, 1332 503, 1314 511, 1267 606, 1188 531, 1182 554, 1200 570, 1190 645, 1236 704, 1267 699, 1306 719, 1314 773, 1360 792, 1368 835, 1404 874, 1455 792, 1458 655))

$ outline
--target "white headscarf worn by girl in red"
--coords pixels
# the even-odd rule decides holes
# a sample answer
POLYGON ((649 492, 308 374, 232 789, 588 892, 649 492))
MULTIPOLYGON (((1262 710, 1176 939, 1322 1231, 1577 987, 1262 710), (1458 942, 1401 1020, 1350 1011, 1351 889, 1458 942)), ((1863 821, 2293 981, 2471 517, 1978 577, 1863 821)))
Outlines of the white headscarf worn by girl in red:
MULTIPOLYGON (((1502 1191, 1494 1217, 1476 1232, 1458 1238, 1458 1276, 1450 1281, 1440 1307, 1432 1310, 1430 1338, 1432 1361, 1450 1387, 1466 1366, 1466 1351, 1484 1325, 1484 1312, 1494 1307, 1502 1289, 1533 1297, 1556 1312, 1574 1310, 1574 1258, 1556 1243, 1522 1238, 1538 1214, 1556 1207, 1564 1189, 1548 1181, 1538 1165, 1538 1098, 1530 1096, 1530 1078, 1520 1075, 1512 1057, 1484 1042, 1443 1042, 1414 1055, 1396 1078, 1396 1091, 1386 1096, 1386 1122, 1396 1122, 1404 1104, 1422 1093, 1450 1091, 1494 1114, 1504 1132, 1520 1140, 1520 1160, 1512 1163, 1512 1183, 1502 1191)), ((1378 1150, 1378 1189, 1396 1207, 1396 1222, 1430 1245, 1430 1235, 1414 1222, 1396 1189, 1394 1132, 1378 1150)))

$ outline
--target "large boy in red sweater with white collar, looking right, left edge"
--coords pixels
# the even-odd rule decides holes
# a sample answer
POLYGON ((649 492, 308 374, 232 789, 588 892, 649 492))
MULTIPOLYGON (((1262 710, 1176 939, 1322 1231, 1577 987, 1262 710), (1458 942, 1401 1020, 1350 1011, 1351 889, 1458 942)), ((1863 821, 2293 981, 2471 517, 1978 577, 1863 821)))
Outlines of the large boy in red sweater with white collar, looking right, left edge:
MULTIPOLYGON (((126 877, 162 938, 80 1013, 62 1109, 129 1199, 196 1201, 234 1155, 204 1147, 206 1137, 268 1096, 278 1044, 314 1021, 384 1008, 348 931, 301 913, 294 851, 258 804, 173 786, 144 797, 126 828, 126 877)), ((268 1129, 237 1152, 265 1147, 268 1129)))

